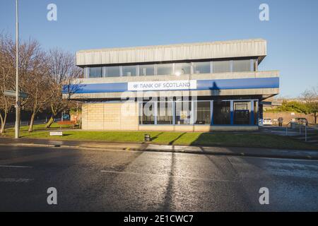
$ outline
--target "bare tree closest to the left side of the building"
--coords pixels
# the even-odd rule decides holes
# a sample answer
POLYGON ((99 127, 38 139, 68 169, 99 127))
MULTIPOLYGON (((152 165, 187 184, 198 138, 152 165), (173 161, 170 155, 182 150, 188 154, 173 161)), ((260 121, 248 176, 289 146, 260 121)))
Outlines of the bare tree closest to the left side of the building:
POLYGON ((73 79, 83 76, 82 69, 75 65, 73 54, 61 49, 52 49, 48 55, 49 92, 52 94, 52 98, 49 100, 51 117, 46 128, 52 125, 58 114, 74 105, 71 102, 71 95, 76 92, 78 87, 70 84, 73 79), (63 98, 62 93, 66 94, 66 98, 63 98))

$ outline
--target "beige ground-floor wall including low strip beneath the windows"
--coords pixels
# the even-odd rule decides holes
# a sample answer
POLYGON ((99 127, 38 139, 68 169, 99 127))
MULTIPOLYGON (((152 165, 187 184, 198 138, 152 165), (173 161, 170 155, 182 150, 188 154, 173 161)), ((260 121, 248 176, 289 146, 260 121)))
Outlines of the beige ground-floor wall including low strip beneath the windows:
POLYGON ((98 131, 255 131, 258 126, 139 125, 138 103, 86 103, 82 129, 98 131))

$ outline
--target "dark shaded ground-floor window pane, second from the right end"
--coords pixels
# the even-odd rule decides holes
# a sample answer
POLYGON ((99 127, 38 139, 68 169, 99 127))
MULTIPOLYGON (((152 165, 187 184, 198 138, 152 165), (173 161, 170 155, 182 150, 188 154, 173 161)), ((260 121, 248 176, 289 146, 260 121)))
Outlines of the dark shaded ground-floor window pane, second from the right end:
POLYGON ((229 125, 231 123, 230 101, 213 102, 213 124, 229 125))

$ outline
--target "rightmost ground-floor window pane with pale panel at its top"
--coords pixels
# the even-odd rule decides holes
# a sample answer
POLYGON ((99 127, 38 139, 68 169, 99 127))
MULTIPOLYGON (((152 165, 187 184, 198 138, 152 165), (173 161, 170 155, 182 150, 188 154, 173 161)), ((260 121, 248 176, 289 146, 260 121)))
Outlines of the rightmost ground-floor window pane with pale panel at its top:
POLYGON ((248 125, 251 102, 234 102, 234 124, 248 125))

